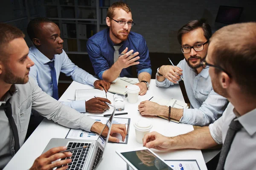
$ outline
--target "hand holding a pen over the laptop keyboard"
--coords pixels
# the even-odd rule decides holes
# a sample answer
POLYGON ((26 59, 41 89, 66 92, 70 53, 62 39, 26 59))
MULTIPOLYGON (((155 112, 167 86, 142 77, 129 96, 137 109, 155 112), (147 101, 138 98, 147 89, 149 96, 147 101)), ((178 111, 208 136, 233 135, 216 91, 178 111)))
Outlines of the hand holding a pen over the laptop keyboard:
POLYGON ((30 168, 30 170, 52 170, 54 167, 60 167, 58 168, 58 170, 67 169, 67 164, 72 161, 71 159, 56 161, 58 159, 72 156, 71 152, 58 153, 63 150, 67 150, 67 147, 54 147, 48 150, 46 153, 43 153, 41 156, 35 159, 34 164, 30 168), (62 165, 64 166, 61 167, 62 165))

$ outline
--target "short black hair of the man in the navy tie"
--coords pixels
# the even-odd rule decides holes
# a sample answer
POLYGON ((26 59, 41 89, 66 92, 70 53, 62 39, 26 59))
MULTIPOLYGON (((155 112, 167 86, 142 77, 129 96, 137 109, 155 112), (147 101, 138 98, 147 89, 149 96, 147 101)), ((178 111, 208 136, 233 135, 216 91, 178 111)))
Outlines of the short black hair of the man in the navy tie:
POLYGON ((38 38, 38 31, 41 28, 41 23, 54 23, 53 21, 49 20, 46 17, 38 17, 31 20, 27 27, 27 33, 31 41, 33 38, 38 38))

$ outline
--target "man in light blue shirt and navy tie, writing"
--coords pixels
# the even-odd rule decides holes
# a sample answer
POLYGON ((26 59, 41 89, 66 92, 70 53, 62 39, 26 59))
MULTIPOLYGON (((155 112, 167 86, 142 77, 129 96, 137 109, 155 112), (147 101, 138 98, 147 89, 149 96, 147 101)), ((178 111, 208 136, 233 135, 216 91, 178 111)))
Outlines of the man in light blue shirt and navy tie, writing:
MULTIPOLYGON (((51 20, 44 17, 31 20, 27 33, 33 42, 33 46, 29 48, 29 58, 35 63, 31 67, 30 76, 44 92, 58 100, 58 78, 61 72, 71 76, 76 82, 108 91, 110 83, 96 79, 69 59, 63 50, 61 31, 51 20)), ((102 113, 109 108, 104 102, 110 101, 105 98, 93 98, 88 101, 71 101, 63 104, 79 112, 102 113)))

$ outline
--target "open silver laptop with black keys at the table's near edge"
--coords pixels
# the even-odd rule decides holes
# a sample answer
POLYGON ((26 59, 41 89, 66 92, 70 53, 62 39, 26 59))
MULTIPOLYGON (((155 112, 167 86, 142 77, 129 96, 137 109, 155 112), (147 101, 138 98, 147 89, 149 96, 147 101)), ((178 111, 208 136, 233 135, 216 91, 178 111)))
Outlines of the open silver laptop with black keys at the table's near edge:
MULTIPOLYGON (((97 140, 52 138, 45 147, 43 153, 47 152, 47 150, 51 149, 52 147, 58 146, 67 146, 67 149, 87 146, 83 149, 71 151, 73 153, 71 156, 72 162, 68 164, 69 166, 67 170, 95 170, 103 158, 103 153, 106 148, 106 144, 108 143, 108 137, 110 135, 115 110, 116 109, 113 110, 113 113, 104 127, 104 129, 107 127, 107 125, 109 127, 106 138, 101 136, 104 129, 100 133, 97 140)), ((57 169, 57 167, 55 167, 54 170, 55 169, 57 169)))

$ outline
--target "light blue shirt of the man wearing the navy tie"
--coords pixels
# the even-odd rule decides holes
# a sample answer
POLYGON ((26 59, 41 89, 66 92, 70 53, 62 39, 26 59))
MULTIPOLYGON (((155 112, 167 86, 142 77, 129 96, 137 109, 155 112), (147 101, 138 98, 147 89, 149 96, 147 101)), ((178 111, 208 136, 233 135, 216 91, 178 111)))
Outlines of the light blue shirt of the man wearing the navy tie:
MULTIPOLYGON (((52 96, 52 75, 49 65, 47 62, 51 61, 44 54, 42 54, 34 45, 29 48, 29 58, 35 62, 35 65, 30 68, 29 75, 35 79, 39 87, 52 96)), ((55 70, 57 80, 60 73, 66 74, 66 76, 71 76, 76 82, 83 84, 93 85, 93 83, 98 80, 91 74, 87 73, 83 69, 75 65, 68 57, 65 51, 61 54, 54 55, 53 59, 55 61, 55 70)), ((71 108, 76 109, 79 112, 85 112, 85 101, 71 101, 62 102, 71 108)))

